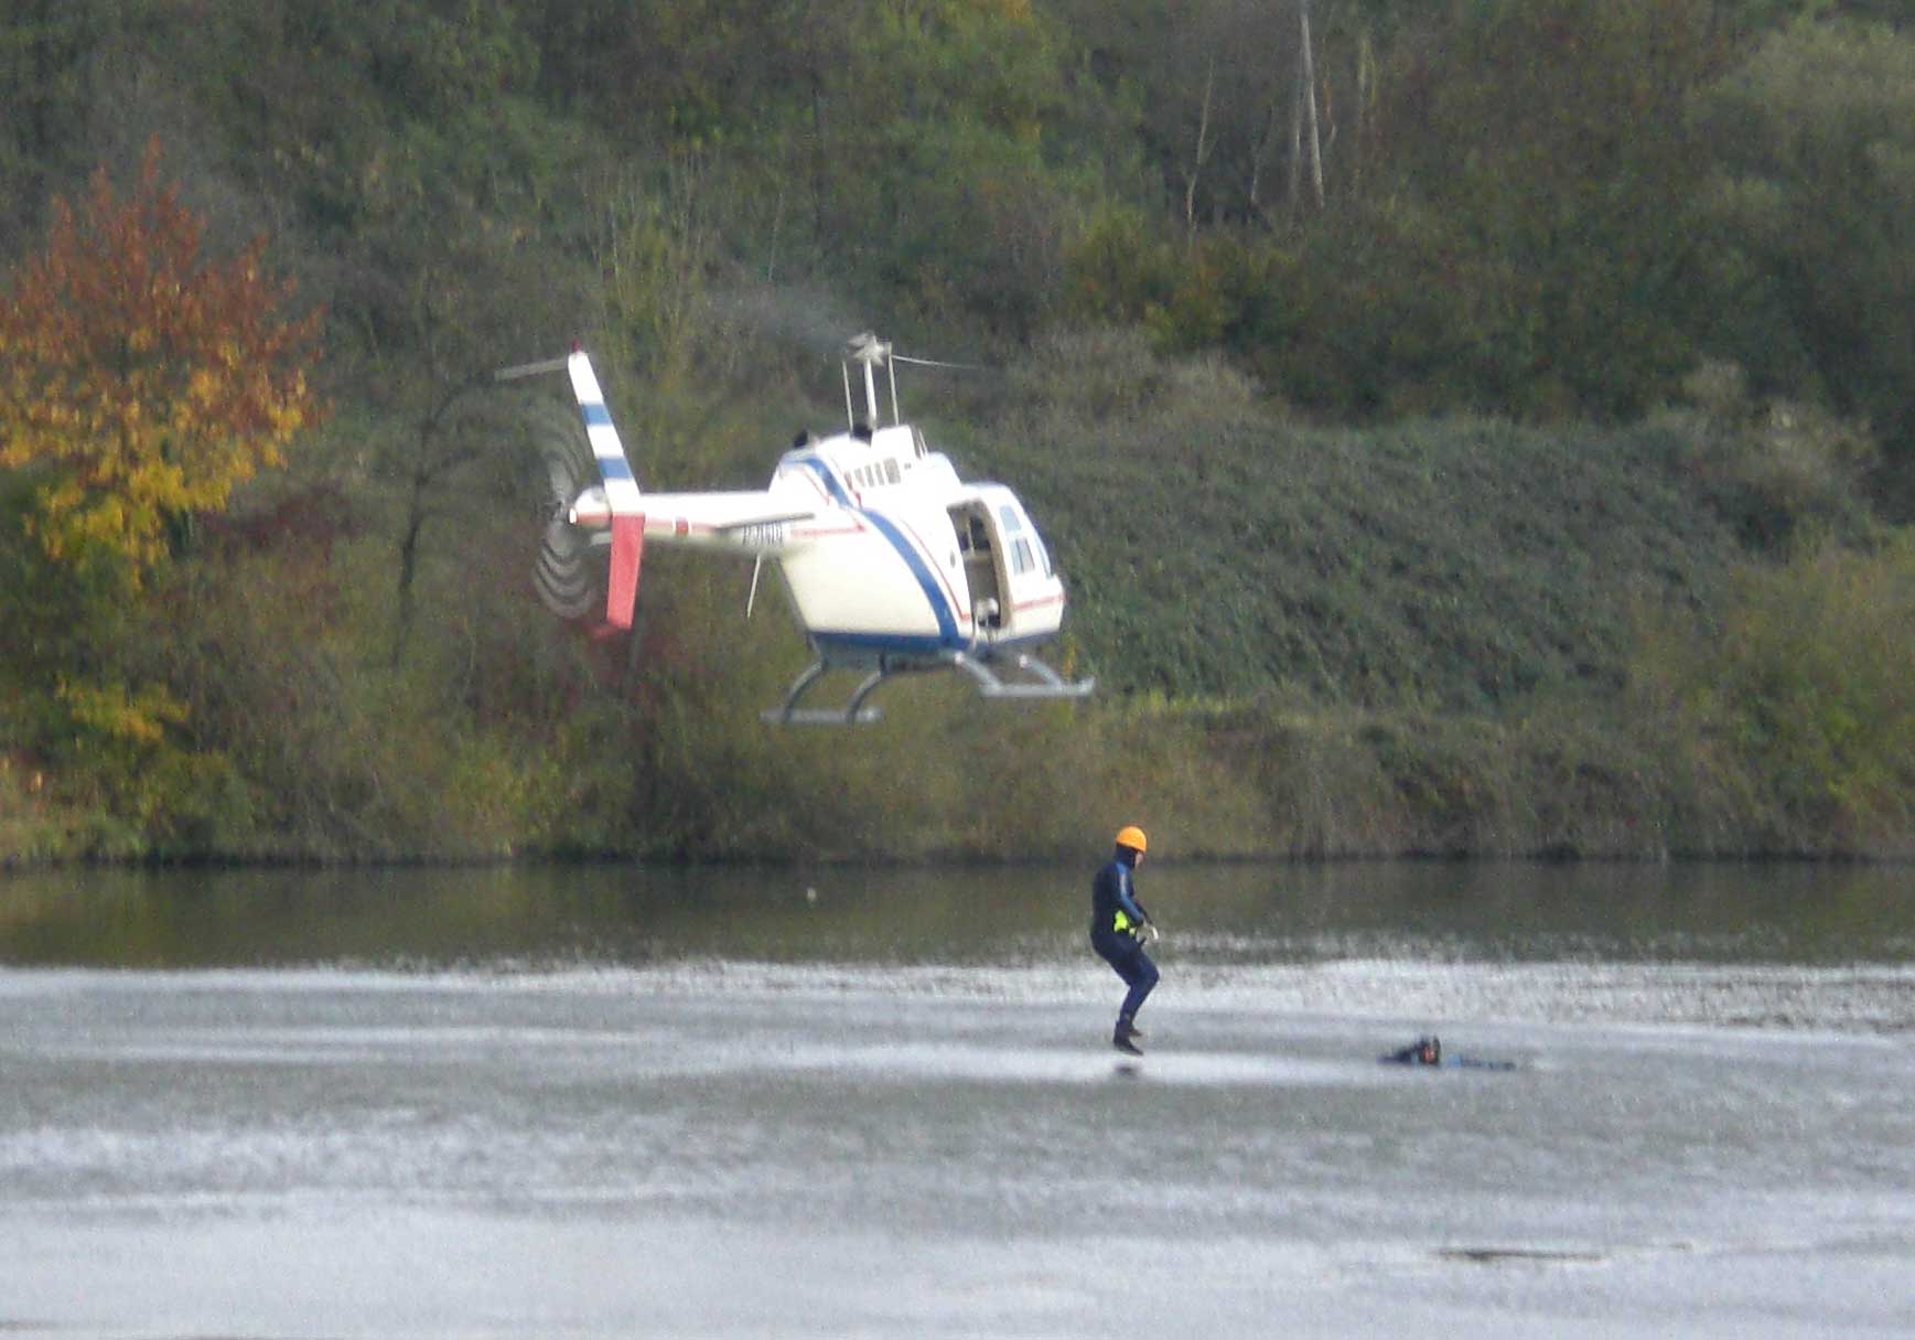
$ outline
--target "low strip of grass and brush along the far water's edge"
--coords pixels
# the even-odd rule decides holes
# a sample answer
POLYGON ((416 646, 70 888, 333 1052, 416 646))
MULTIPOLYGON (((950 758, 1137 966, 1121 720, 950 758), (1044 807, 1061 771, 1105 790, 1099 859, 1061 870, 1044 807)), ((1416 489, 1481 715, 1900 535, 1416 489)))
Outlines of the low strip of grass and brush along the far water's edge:
MULTIPOLYGON (((1907 579, 1905 546, 1879 562, 1907 579)), ((626 675, 619 658, 553 644, 536 623, 473 623, 456 663, 396 671, 337 646, 255 648, 226 665, 222 711, 249 719, 255 694, 287 711, 247 736, 201 709, 201 728, 222 736, 228 782, 213 796, 224 809, 201 797, 142 828, 11 767, 0 778, 6 857, 1067 859, 1132 819, 1178 857, 1915 855, 1915 753, 1890 638, 1846 644, 1852 698, 1840 705, 1815 679, 1792 681, 1814 702, 1777 696, 1771 652, 1748 629, 1779 617, 1796 636, 1796 619, 1852 617, 1831 587, 1867 589, 1869 577, 1848 560, 1806 566, 1781 594, 1756 583, 1754 604, 1727 617, 1741 629, 1727 658, 1722 635, 1645 635, 1656 671, 1607 698, 1465 713, 1275 692, 1231 705, 1107 694, 1003 709, 933 677, 887 686, 885 721, 858 730, 758 725, 756 707, 795 663, 789 635, 693 619, 737 592, 693 571, 663 575, 680 587, 657 602, 655 659, 636 692, 607 692, 626 675), (1871 663, 1886 677, 1873 686, 1871 663), (1900 715, 1859 725, 1894 694, 1900 715)))

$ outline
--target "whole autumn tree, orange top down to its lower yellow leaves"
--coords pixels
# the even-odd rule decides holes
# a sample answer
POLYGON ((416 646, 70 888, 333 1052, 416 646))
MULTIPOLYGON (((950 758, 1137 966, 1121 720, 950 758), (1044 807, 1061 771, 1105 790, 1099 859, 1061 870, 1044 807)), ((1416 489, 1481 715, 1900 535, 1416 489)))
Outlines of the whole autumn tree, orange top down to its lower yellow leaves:
POLYGON ((155 140, 130 196, 101 171, 80 207, 54 201, 0 289, 0 761, 124 824, 98 851, 192 843, 230 790, 142 654, 144 606, 193 514, 318 414, 318 312, 289 312, 264 240, 220 259, 203 238, 155 140))

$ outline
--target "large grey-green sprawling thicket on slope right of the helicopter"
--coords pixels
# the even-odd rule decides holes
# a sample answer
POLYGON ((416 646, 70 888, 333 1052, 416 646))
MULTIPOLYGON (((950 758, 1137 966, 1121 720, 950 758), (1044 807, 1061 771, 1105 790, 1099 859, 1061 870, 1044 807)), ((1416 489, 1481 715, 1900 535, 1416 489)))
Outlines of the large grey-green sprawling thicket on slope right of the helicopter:
POLYGON ((1616 690, 1641 600, 1702 604, 1735 541, 1674 424, 1298 426, 1132 334, 1051 341, 958 456, 1013 479, 1109 688, 1484 709, 1616 690))

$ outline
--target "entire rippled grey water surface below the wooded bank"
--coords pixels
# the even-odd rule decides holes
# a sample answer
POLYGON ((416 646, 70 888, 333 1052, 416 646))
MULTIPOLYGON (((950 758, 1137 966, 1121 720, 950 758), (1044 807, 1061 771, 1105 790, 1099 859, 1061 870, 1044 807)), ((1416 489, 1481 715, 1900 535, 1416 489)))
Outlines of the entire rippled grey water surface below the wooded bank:
POLYGON ((1915 870, 1088 878, 0 876, 0 1334, 1911 1332, 1915 870))

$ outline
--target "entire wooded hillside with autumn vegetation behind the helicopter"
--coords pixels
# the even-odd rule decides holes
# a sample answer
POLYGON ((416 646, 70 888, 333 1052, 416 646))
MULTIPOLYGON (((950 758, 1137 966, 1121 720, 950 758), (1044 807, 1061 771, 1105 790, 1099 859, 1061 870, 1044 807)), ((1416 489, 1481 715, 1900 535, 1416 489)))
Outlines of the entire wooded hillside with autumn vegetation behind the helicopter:
POLYGON ((21 0, 0 861, 1915 851, 1902 6, 1310 15, 21 0), (532 598, 492 370, 756 485, 866 328, 1090 704, 772 730, 749 567, 532 598))

